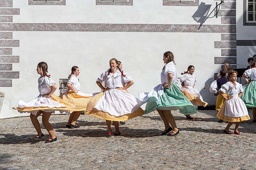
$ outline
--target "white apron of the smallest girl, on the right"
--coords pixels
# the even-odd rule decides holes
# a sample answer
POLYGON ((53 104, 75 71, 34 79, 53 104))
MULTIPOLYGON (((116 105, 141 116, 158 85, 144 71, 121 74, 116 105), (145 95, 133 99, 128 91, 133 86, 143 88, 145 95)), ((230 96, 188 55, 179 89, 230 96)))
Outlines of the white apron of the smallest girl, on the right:
POLYGON ((242 117, 248 115, 247 108, 238 96, 233 96, 232 99, 226 101, 225 116, 242 117))

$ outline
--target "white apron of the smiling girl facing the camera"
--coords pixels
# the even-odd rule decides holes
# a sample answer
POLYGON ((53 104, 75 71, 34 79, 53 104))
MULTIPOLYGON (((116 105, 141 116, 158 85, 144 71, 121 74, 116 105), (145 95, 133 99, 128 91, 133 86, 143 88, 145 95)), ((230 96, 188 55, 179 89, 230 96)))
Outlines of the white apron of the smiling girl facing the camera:
POLYGON ((110 115, 122 116, 133 113, 139 109, 137 99, 125 90, 110 89, 105 91, 98 103, 94 106, 99 111, 108 112, 110 115))

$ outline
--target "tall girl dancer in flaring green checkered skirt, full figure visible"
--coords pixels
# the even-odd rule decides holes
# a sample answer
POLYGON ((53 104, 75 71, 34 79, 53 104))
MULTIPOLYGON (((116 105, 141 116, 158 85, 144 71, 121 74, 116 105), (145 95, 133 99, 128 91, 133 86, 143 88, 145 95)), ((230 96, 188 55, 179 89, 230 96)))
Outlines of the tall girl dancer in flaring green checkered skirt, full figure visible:
POLYGON ((180 88, 174 83, 177 80, 177 71, 174 64, 174 56, 172 52, 164 53, 163 57, 165 66, 161 72, 161 84, 156 86, 149 93, 140 93, 139 104, 146 104, 144 114, 148 114, 157 109, 161 116, 165 129, 161 135, 174 136, 179 133, 174 116, 171 110, 179 109, 184 115, 190 115, 197 112, 192 103, 183 95, 180 88))

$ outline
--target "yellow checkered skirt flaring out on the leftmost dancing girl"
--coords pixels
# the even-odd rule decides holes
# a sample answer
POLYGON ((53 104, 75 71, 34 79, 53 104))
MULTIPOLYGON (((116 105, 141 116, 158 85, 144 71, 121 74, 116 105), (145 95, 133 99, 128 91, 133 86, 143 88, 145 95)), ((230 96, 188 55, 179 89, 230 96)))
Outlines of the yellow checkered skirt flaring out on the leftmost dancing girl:
POLYGON ((24 108, 19 108, 19 107, 13 107, 13 109, 16 109, 20 112, 29 112, 29 111, 40 111, 40 110, 65 110, 65 111, 74 111, 75 110, 75 105, 68 103, 67 101, 64 101, 63 99, 61 99, 60 97, 58 97, 55 94, 52 94, 50 96, 50 98, 53 101, 57 101, 60 104, 65 105, 66 107, 24 107, 24 108))

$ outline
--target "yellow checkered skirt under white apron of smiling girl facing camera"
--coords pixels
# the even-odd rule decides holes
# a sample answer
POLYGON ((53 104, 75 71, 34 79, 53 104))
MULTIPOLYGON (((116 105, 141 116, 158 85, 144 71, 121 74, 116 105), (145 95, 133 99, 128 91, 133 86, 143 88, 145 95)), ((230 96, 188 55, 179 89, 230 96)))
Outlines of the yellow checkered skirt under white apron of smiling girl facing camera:
POLYGON ((142 116, 144 114, 144 111, 143 111, 143 109, 141 109, 141 107, 139 107, 139 109, 137 109, 136 111, 134 111, 132 113, 128 113, 128 114, 125 114, 122 116, 114 116, 114 115, 110 115, 108 112, 99 111, 96 108, 94 108, 94 106, 98 103, 98 101, 101 99, 103 94, 104 94, 104 92, 101 92, 101 93, 97 94, 96 96, 94 96, 89 101, 84 114, 90 114, 92 116, 95 116, 96 118, 100 118, 100 119, 104 119, 104 120, 112 120, 112 121, 125 121, 128 119, 135 118, 136 116, 142 116))

